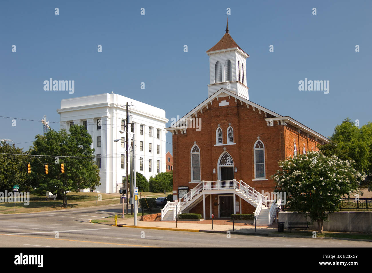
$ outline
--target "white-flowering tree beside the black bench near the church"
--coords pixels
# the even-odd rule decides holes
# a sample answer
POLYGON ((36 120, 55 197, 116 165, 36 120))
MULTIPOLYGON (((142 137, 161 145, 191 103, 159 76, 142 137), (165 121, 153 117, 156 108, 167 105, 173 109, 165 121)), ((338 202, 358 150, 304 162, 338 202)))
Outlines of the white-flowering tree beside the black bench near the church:
POLYGON ((276 192, 286 193, 286 205, 291 210, 308 214, 317 221, 318 232, 328 214, 337 211, 340 199, 360 193, 358 185, 366 175, 353 168, 355 162, 327 157, 320 152, 307 152, 279 162, 279 170, 272 179, 276 192))

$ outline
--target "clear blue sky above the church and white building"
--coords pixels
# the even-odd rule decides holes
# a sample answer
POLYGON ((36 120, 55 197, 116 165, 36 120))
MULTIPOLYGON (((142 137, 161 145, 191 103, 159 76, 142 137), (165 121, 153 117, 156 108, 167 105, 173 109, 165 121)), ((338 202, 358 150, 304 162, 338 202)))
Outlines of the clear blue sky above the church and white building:
MULTIPOLYGON (((251 101, 324 136, 347 117, 372 120, 372 1, 1 1, 0 115, 58 122, 61 99, 113 91, 183 116, 208 96, 205 51, 224 35, 227 8, 250 55, 251 101), (51 77, 75 80, 74 94, 44 91, 51 77), (299 91, 305 78, 329 80, 330 92, 299 91)), ((41 122, 9 118, 0 128, 25 150, 42 133, 41 122)))

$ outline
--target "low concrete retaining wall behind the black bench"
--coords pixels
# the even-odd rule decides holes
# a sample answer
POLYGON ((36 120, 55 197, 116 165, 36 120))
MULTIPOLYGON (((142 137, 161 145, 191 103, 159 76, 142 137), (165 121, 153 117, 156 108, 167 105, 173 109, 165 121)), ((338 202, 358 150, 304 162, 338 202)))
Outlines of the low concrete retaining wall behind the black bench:
MULTIPOLYGON (((311 222, 310 218, 298 212, 279 212, 279 222, 311 222)), ((309 229, 318 230, 318 223, 309 225, 309 229)), ((372 233, 372 212, 334 212, 323 222, 323 231, 366 232, 372 233)))

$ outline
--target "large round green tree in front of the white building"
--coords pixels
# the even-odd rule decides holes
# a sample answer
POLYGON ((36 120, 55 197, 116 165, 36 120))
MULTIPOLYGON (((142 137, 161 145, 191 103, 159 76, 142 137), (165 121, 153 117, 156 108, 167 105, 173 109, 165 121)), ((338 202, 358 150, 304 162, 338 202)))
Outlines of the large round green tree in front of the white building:
POLYGON ((49 130, 45 136, 37 135, 31 155, 35 156, 31 173, 38 186, 62 196, 63 206, 67 207, 67 193, 79 188, 92 188, 100 185, 99 169, 94 160, 94 149, 91 148, 92 136, 83 126, 70 127, 59 132, 49 130), (60 164, 64 164, 64 174, 60 164), (44 174, 44 165, 48 164, 49 174, 44 174))

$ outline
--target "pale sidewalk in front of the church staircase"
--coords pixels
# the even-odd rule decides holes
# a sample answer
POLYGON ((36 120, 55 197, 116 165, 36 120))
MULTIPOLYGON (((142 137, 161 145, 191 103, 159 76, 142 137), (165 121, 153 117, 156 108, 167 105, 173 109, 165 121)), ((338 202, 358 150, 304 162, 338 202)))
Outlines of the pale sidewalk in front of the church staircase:
MULTIPOLYGON (((233 231, 232 223, 225 223, 221 225, 222 220, 214 220, 213 230, 212 230, 212 220, 204 220, 201 222, 193 221, 176 221, 164 222, 164 221, 145 221, 142 222, 137 218, 137 226, 134 226, 134 218, 128 219, 118 219, 118 226, 122 227, 137 227, 137 228, 147 228, 147 229, 163 229, 163 230, 173 230, 173 231, 190 231, 190 232, 216 232, 216 233, 226 233, 230 231, 236 234, 260 234, 267 235, 278 230, 276 224, 268 226, 257 226, 257 231, 254 231, 254 226, 244 225, 242 223, 235 224, 235 231, 233 231)), ((226 221, 223 221, 226 222, 226 221)))

